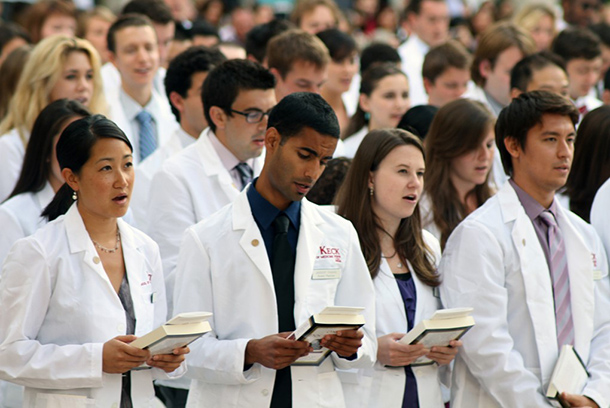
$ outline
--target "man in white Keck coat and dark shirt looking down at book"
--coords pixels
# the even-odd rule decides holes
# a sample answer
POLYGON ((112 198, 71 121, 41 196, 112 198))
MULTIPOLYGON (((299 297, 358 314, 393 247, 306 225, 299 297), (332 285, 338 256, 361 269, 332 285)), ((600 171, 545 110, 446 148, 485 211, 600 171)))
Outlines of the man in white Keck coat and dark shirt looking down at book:
POLYGON ((293 93, 271 111, 260 177, 235 201, 187 230, 175 312, 214 313, 191 347, 193 407, 344 407, 335 367, 371 367, 374 289, 355 229, 304 200, 331 159, 339 123, 324 99, 293 93), (366 325, 327 335, 319 366, 291 366, 312 351, 288 338, 327 306, 361 306, 366 325))

